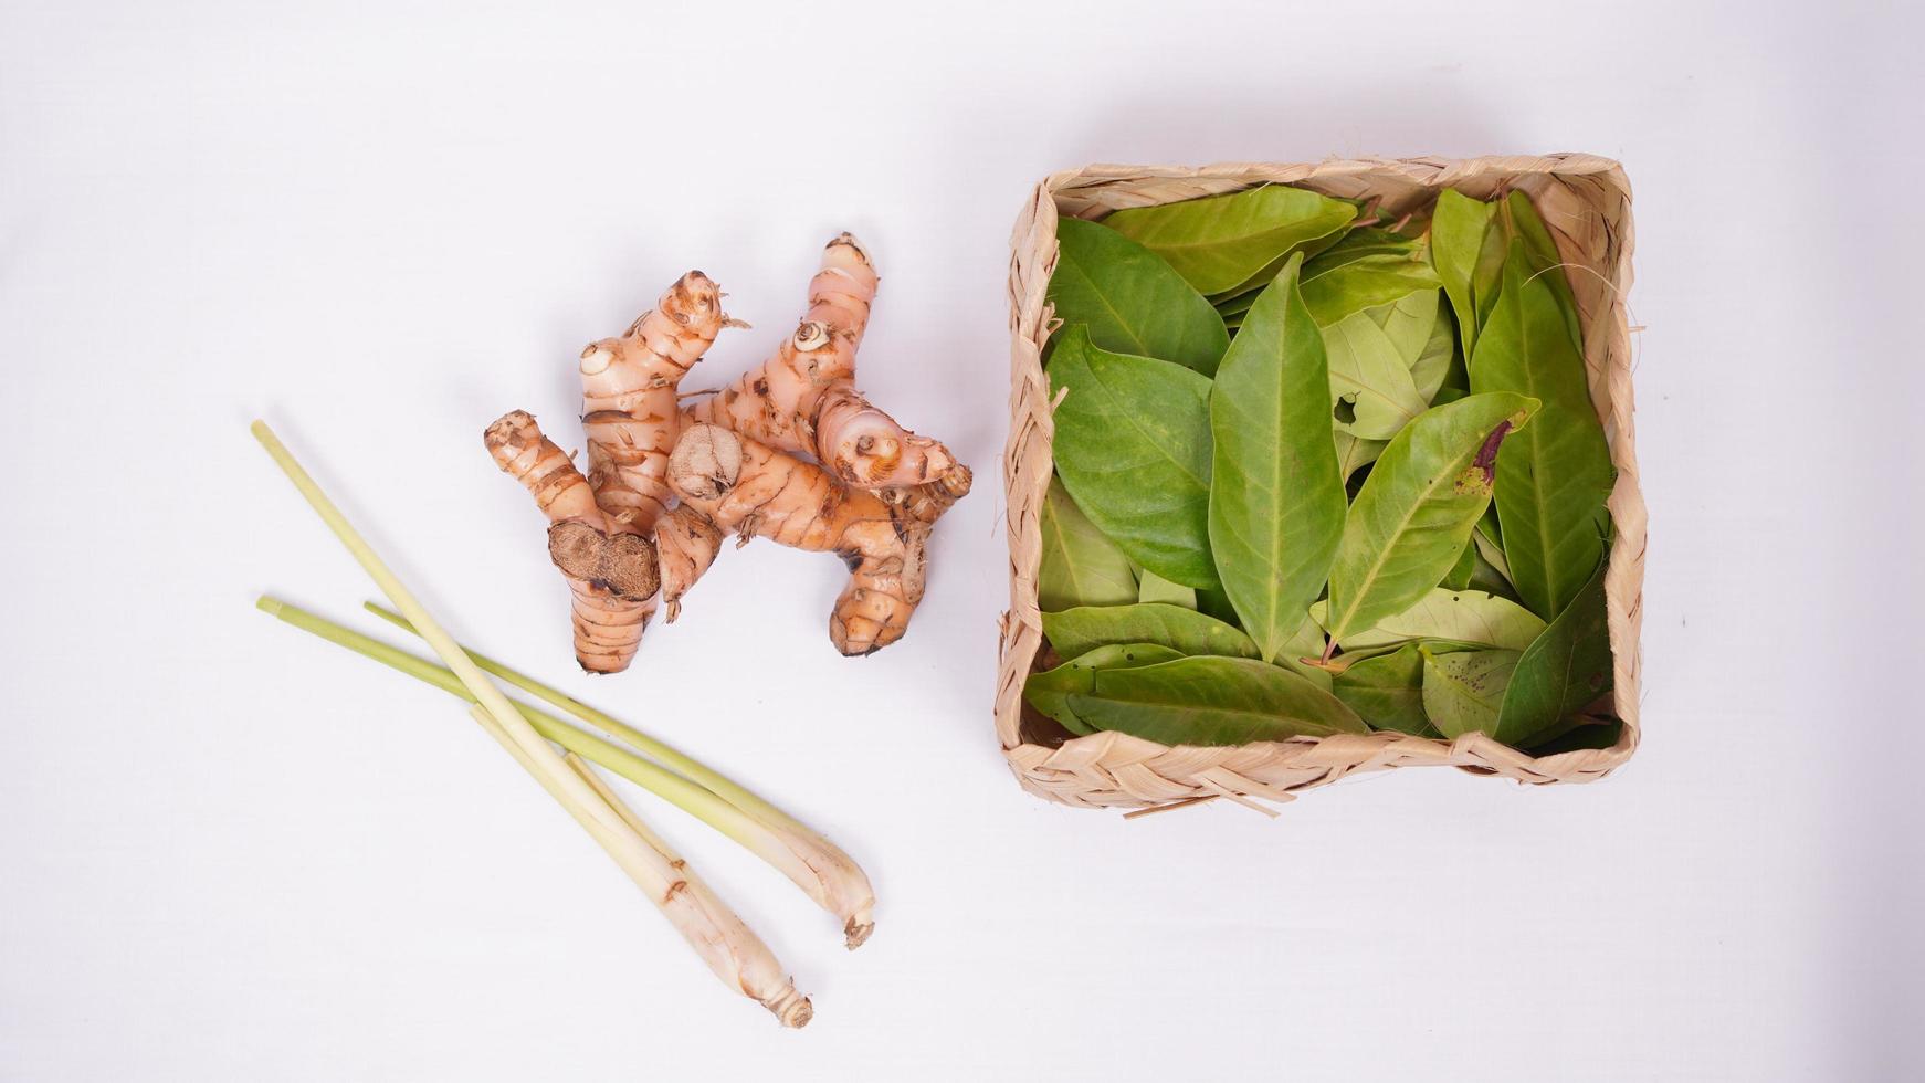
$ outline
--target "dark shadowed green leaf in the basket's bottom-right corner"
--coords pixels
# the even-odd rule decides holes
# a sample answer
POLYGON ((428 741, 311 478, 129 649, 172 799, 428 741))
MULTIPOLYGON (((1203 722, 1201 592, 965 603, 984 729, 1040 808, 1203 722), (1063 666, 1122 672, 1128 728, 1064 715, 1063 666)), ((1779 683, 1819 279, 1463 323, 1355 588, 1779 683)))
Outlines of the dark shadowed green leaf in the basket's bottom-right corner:
POLYGON ((1523 746, 1611 691, 1611 633, 1604 606, 1604 562, 1577 598, 1517 660, 1492 733, 1523 746))

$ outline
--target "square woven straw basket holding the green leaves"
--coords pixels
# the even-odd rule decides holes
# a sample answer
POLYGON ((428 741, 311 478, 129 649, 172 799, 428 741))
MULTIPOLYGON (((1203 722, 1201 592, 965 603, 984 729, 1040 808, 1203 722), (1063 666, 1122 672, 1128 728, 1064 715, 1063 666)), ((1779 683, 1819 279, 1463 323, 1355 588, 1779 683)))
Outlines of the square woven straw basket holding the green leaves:
MULTIPOLYGON (((1294 791, 1386 768, 1451 766, 1521 783, 1600 779, 1638 746, 1638 627, 1644 592, 1644 498, 1630 423, 1630 187, 1617 162, 1588 154, 1546 158, 1440 158, 1322 162, 1315 165, 1224 164, 1201 169, 1172 165, 1090 165, 1055 173, 1016 217, 1011 239, 1011 421, 1003 452, 1009 508, 1009 612, 1003 614, 995 687, 995 733, 1024 789, 1074 806, 1159 808, 1209 798, 1257 804, 1290 800, 1294 791), (1388 214, 1424 206, 1440 189, 1492 198, 1519 189, 1530 196, 1571 269, 1584 323, 1584 365, 1592 402, 1611 441, 1617 487, 1609 508, 1617 525, 1605 571, 1615 669, 1615 710, 1625 721, 1611 748, 1532 758, 1469 735, 1434 741, 1401 733, 1265 741, 1234 748, 1167 746, 1124 733, 1072 737, 1028 710, 1022 683, 1043 648, 1036 606, 1041 554, 1038 514, 1055 467, 1055 433, 1041 348, 1053 314, 1043 300, 1057 264, 1057 217, 1095 219, 1113 210, 1232 192, 1259 183, 1296 185, 1330 196, 1378 196, 1388 214)), ((1257 808, 1263 808, 1257 804, 1257 808)))

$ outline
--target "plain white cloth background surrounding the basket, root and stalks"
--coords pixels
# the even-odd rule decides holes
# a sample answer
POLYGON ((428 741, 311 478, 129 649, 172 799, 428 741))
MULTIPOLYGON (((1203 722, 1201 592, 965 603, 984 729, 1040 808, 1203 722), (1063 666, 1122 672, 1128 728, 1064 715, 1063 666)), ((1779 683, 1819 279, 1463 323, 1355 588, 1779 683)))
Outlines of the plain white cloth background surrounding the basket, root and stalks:
MULTIPOLYGON (((1917 1079, 1915 15, 1852 4, 0 4, 0 1079, 1917 1079), (1016 789, 1007 239, 1086 162, 1586 150, 1636 189, 1638 756, 1269 821, 1016 789), (699 265, 884 273, 862 387, 978 467, 899 646, 726 554, 585 679, 479 431, 699 265), (372 587, 870 869, 824 914, 637 796, 816 996, 728 995, 441 693, 254 612, 372 587)), ((1896 6, 1894 6, 1896 10, 1896 6)), ((691 383, 689 387, 697 387, 691 383)), ((370 625, 372 627, 372 625, 370 625)))

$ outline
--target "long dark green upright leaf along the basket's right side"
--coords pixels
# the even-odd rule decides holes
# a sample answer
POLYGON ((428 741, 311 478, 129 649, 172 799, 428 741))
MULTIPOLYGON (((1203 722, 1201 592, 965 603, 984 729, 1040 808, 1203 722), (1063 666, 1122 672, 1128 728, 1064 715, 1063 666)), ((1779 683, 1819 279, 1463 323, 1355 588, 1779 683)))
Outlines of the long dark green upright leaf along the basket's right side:
POLYGON ((1498 519, 1517 592, 1538 616, 1563 612, 1584 589, 1609 533, 1615 469, 1548 277, 1530 275, 1511 244, 1498 308, 1471 354, 1471 390, 1517 392, 1544 406, 1498 456, 1498 519))

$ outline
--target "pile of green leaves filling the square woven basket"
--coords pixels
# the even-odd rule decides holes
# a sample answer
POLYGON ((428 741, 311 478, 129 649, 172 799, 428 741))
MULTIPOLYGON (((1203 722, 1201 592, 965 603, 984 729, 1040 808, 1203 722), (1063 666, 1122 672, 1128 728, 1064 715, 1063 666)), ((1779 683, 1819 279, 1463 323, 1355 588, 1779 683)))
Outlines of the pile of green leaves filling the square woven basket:
POLYGON ((1036 712, 1165 744, 1617 741, 1611 456, 1523 192, 1388 221, 1270 185, 1057 237, 1036 712))

